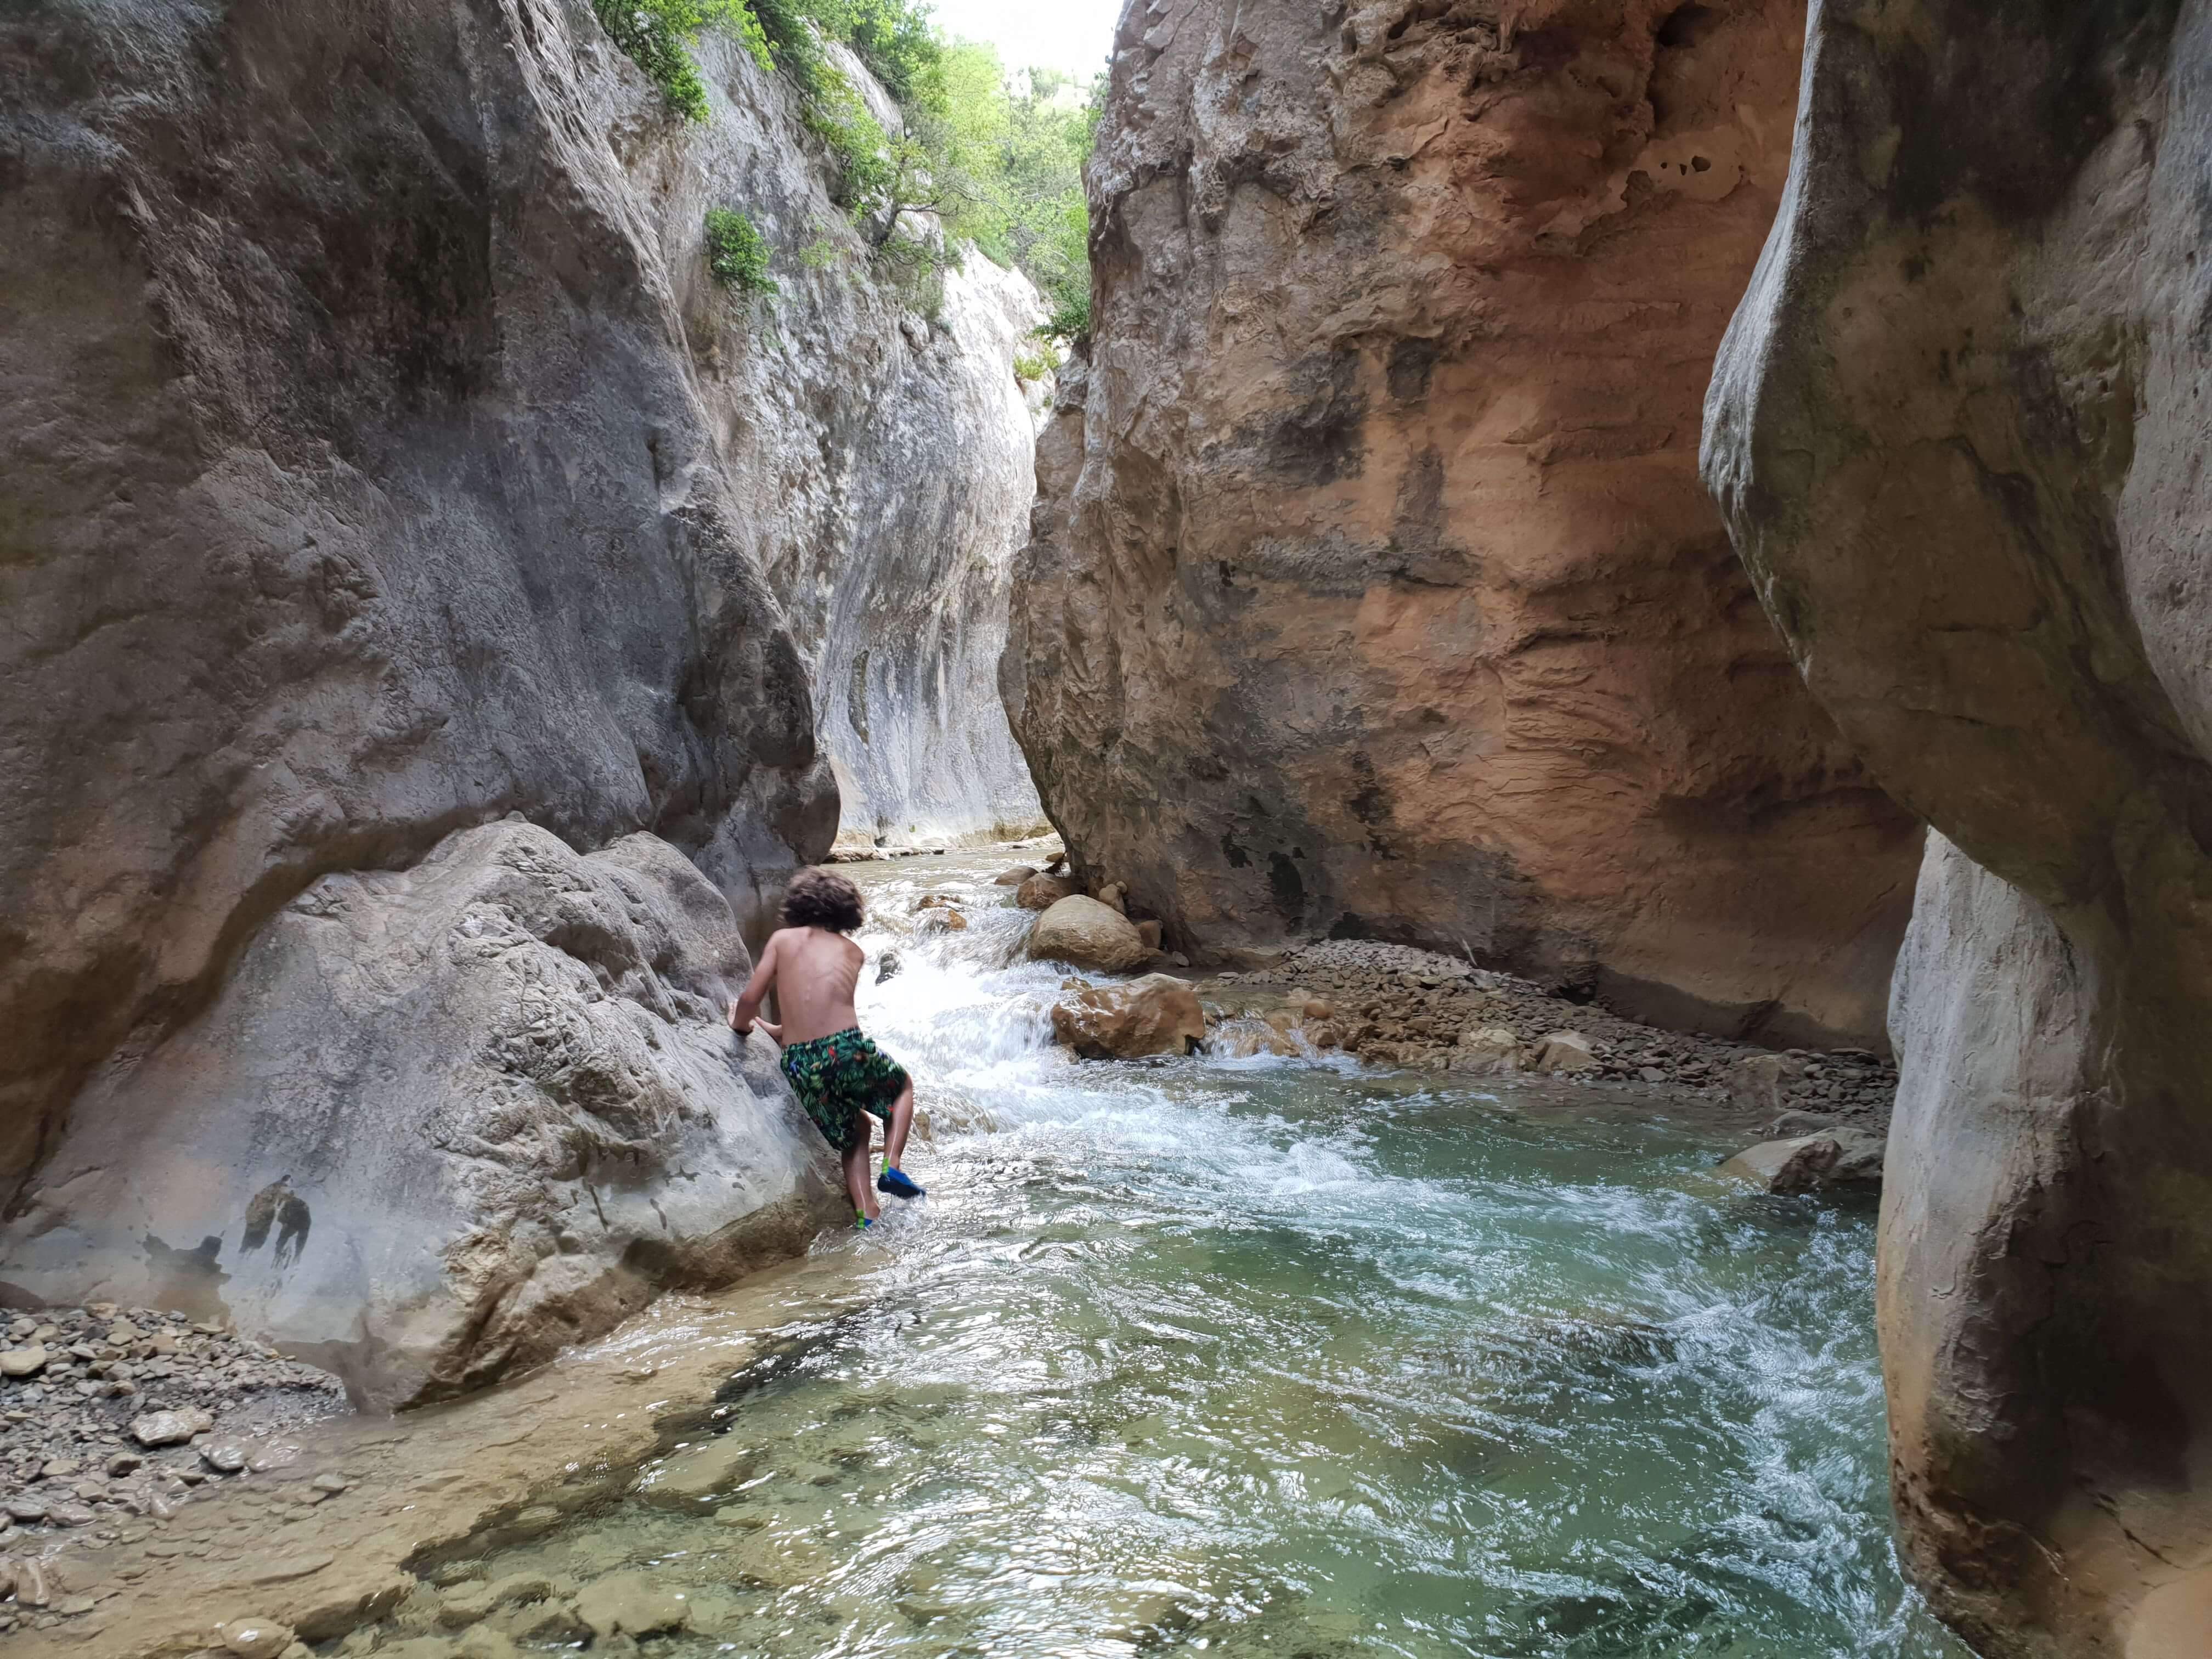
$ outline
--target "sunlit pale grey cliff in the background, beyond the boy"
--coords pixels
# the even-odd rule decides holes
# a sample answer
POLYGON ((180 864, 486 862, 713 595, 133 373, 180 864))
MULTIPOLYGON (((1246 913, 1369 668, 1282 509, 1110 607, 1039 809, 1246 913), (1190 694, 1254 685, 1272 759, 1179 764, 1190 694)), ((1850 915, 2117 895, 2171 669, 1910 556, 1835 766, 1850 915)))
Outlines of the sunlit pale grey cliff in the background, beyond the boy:
MULTIPOLYGON (((836 53, 896 126, 858 60, 836 53)), ((843 838, 1029 834, 1042 810, 995 675, 1035 498, 1013 356, 1044 307, 1029 279, 980 257, 940 299, 876 279, 827 173, 807 164, 818 146, 783 82, 719 38, 699 58, 712 126, 668 142, 650 95, 615 119, 732 493, 752 509, 739 535, 807 664, 843 838), (699 226, 717 206, 741 206, 783 250, 781 294, 737 303, 714 285, 699 226)))

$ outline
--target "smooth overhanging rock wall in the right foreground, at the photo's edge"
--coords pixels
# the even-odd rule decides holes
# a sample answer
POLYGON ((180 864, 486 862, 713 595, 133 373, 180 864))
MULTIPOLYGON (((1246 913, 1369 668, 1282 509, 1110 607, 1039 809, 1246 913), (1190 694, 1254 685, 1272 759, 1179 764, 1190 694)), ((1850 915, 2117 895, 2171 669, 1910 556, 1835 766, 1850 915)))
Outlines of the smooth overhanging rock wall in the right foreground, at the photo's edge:
POLYGON ((2212 13, 1823 0, 1705 476, 1931 838, 1880 1329, 1989 1655, 2212 1630, 2212 13))

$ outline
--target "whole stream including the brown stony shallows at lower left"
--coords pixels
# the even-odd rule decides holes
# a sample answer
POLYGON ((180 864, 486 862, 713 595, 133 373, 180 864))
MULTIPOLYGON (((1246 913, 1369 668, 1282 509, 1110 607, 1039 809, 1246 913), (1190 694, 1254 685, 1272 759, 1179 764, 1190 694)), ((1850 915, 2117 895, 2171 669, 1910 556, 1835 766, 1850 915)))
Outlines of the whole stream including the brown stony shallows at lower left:
MULTIPOLYGON (((1077 1057, 1055 1009, 1179 982, 1071 989, 1011 856, 854 869, 927 1199, 473 1400, 239 1436, 166 1517, 18 1540, 53 1590, 0 1599, 24 1655, 1964 1659, 1891 1548, 1869 1194, 1723 1177, 1745 1113, 1688 1084, 1250 1046, 1301 989, 1256 975, 1077 1057)), ((1298 967, 1402 1006, 1453 971, 1298 967)))

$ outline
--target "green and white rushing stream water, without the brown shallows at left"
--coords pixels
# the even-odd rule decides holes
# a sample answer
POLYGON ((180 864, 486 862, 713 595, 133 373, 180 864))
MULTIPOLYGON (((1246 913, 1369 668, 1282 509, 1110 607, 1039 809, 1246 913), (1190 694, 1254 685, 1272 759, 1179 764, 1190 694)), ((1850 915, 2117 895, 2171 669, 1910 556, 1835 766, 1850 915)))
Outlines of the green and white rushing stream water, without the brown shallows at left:
POLYGON ((1891 1551, 1871 1203, 1732 1190, 1648 1093, 1071 1062, 1000 865, 858 872, 933 1124, 818 1245, 860 1294, 453 1571, 679 1588, 672 1657, 1964 1655, 1891 1551))

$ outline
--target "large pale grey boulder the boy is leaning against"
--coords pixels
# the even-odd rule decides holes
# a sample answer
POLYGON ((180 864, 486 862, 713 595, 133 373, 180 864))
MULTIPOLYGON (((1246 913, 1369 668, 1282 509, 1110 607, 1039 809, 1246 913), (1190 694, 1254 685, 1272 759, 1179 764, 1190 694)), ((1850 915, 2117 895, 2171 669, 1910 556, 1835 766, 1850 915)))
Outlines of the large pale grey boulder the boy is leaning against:
POLYGON ((77 1104, 7 1276, 228 1314, 378 1407, 546 1360, 841 1214, 774 1046, 723 1024, 748 971, 648 834, 500 823, 325 876, 77 1104))

